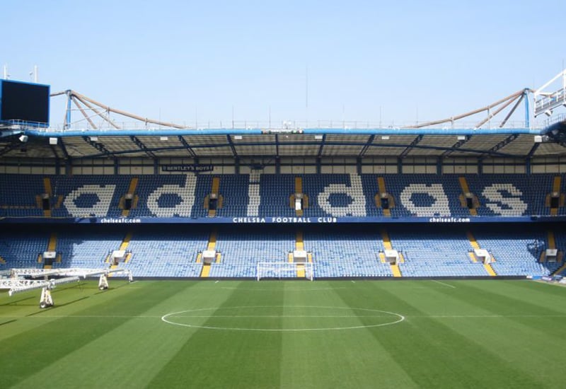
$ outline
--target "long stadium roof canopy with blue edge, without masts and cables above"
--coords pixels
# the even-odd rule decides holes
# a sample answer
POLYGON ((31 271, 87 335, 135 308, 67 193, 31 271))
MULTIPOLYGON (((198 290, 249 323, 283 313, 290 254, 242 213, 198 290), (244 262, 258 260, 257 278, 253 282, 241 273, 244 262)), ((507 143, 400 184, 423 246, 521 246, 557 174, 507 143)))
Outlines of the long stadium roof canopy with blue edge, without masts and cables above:
POLYGON ((12 158, 565 156, 566 121, 546 129, 0 130, 12 158))

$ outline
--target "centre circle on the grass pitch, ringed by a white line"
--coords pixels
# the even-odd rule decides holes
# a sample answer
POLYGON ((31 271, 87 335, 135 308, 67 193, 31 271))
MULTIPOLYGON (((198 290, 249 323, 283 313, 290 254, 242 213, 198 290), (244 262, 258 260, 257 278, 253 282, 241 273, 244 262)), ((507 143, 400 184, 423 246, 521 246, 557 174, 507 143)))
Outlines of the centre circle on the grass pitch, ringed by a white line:
POLYGON ((305 332, 357 330, 398 324, 405 316, 386 310, 332 306, 234 306, 168 313, 163 322, 208 330, 305 332))

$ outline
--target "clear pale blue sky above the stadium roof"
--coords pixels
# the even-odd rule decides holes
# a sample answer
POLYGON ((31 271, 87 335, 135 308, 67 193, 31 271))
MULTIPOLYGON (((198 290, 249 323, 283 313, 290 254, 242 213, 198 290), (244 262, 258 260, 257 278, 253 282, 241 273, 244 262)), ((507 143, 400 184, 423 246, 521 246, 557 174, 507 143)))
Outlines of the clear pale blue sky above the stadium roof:
MULTIPOLYGON (((379 122, 381 107, 383 123, 422 122, 558 74, 566 1, 538 4, 4 0, 0 65, 187 124, 229 122, 232 107, 236 120, 379 122)), ((64 105, 52 99, 52 123, 64 105)))

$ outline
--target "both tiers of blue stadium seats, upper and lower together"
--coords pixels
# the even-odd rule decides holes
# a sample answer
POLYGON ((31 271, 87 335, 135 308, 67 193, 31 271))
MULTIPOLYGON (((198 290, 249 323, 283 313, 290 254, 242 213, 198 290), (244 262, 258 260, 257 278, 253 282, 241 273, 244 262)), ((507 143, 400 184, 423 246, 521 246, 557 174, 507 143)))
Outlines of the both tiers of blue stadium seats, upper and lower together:
MULTIPOLYGON (((251 174, 209 175, 0 175, 0 213, 4 217, 52 218, 190 218, 211 219, 297 216, 293 199, 304 195, 301 215, 318 217, 391 217, 393 219, 458 216, 496 219, 507 216, 565 215, 566 207, 550 207, 552 192, 565 192, 565 175, 376 175, 376 174, 251 174), (134 180, 135 179, 135 180, 134 180), (132 185, 135 182, 136 185, 132 185), (381 182, 381 183, 380 183, 381 182), (560 184, 560 185, 559 185, 560 184), (385 211, 376 199, 380 185, 391 197, 385 211), (557 187, 557 185, 559 185, 557 187), (133 189, 132 189, 133 188, 133 189), (124 218, 125 194, 133 195, 124 218), (212 194, 218 196, 214 216, 212 194), (42 197, 49 195, 50 214, 42 197), (466 203, 466 198, 473 202, 466 203), (472 204, 473 207, 470 207, 472 204)), ((410 219, 408 219, 410 220, 410 219)), ((430 225, 428 225, 430 226, 430 225)), ((258 261, 284 262, 295 248, 296 228, 241 228, 225 226, 216 237, 220 260, 212 262, 207 277, 255 277, 258 261)), ((281 226, 279 226, 280 228, 281 226)), ((393 277, 395 269, 379 253, 386 250, 379 231, 352 226, 304 228, 304 249, 316 264, 316 277, 393 277)), ((42 252, 53 231, 6 232, 0 241, 0 268, 43 267, 42 252), (24 238, 25 236, 25 238, 24 238)), ((127 242, 128 260, 115 267, 131 269, 134 277, 201 277, 197 260, 207 250, 213 227, 135 230, 127 242), (156 231, 157 230, 157 231, 156 231)), ((563 260, 548 261, 548 228, 525 228, 503 233, 474 227, 480 248, 488 250, 498 276, 566 274, 563 260), (543 258, 541 260, 541 258, 543 258)), ((402 277, 485 277, 485 267, 473 262, 470 241, 463 229, 388 228, 402 277)), ((110 266, 108 255, 124 247, 121 229, 72 228, 57 234, 52 267, 110 266), (88 231, 88 232, 86 232, 88 231)), ((555 246, 566 249, 566 236, 555 228, 555 246)), ((50 265, 51 266, 51 265, 50 265)), ((284 277, 293 277, 288 273, 284 277)))

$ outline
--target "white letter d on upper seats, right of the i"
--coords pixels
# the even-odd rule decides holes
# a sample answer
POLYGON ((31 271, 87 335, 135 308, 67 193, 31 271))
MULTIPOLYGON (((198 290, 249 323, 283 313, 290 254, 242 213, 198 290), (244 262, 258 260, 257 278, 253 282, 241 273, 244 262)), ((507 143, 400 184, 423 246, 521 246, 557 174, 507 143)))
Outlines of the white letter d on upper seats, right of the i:
POLYGON ((350 186, 330 184, 318 194, 317 200, 323 211, 335 217, 366 216, 366 197, 362 190, 362 178, 355 173, 350 173, 350 186), (352 202, 346 206, 333 206, 330 204, 330 194, 346 194, 352 198, 352 202))

